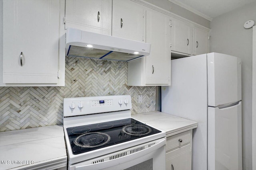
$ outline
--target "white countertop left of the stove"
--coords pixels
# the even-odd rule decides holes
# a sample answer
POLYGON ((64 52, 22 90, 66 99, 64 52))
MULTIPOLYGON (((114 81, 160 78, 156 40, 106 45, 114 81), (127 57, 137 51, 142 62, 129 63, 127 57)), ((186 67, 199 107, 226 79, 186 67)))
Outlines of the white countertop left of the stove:
POLYGON ((57 169, 66 164, 62 125, 0 133, 0 170, 57 169))

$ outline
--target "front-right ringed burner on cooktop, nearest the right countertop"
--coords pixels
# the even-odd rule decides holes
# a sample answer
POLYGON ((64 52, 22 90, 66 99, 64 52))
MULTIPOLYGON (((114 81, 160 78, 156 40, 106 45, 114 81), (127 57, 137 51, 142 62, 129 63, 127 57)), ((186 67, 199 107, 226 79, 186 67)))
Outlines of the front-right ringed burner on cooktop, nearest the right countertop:
POLYGON ((128 135, 141 136, 150 133, 152 130, 144 125, 127 125, 123 127, 123 132, 128 135))

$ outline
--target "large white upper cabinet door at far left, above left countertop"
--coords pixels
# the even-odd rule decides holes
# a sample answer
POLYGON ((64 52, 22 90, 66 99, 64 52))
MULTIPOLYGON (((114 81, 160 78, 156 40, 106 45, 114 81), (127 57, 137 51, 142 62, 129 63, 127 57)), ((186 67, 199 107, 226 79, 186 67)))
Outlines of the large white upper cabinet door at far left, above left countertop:
POLYGON ((3 82, 57 83, 58 0, 3 1, 3 82))

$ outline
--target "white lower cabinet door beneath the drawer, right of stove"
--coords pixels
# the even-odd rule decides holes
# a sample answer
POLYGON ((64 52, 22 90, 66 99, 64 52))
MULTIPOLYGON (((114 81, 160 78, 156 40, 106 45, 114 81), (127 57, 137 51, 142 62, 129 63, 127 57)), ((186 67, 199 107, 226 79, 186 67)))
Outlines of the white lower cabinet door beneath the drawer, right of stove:
POLYGON ((191 170, 191 144, 166 153, 166 170, 191 170))

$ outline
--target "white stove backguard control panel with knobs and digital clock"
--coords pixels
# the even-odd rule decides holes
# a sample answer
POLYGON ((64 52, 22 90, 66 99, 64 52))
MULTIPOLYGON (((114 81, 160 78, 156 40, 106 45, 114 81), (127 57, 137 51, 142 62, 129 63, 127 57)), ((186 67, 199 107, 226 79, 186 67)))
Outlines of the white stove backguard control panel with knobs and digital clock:
POLYGON ((130 95, 64 98, 63 116, 88 115, 132 109, 130 95))

